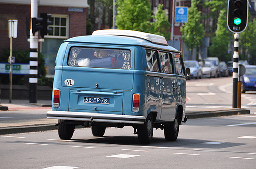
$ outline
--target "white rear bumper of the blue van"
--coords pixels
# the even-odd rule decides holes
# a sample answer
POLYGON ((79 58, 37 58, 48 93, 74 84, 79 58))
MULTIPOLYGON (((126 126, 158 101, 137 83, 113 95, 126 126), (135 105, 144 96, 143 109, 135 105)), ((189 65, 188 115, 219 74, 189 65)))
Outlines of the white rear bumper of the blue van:
POLYGON ((145 122, 144 116, 115 115, 73 111, 48 111, 47 118, 104 123, 144 124, 145 122))

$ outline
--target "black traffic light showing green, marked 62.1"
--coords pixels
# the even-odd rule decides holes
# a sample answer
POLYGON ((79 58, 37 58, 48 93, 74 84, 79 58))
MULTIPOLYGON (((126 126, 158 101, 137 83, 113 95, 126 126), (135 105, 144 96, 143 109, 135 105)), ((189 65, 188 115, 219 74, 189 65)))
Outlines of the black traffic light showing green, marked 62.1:
POLYGON ((243 32, 247 27, 248 0, 228 0, 227 26, 233 33, 243 32))

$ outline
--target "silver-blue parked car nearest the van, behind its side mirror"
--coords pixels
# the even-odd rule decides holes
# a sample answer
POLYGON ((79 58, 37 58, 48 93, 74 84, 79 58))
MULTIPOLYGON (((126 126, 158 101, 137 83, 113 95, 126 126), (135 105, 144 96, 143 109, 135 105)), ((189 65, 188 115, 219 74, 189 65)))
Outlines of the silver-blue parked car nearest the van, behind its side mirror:
POLYGON ((203 72, 202 67, 199 65, 198 61, 184 61, 186 68, 190 68, 191 78, 202 78, 203 72))

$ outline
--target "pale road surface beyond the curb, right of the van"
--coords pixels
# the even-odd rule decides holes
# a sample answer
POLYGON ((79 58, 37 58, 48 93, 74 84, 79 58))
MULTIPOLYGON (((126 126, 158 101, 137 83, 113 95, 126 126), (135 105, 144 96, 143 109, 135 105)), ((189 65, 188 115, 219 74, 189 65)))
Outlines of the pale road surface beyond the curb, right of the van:
MULTIPOLYGON (((233 79, 221 77, 187 81, 187 111, 230 109, 233 104, 233 79)), ((241 108, 256 112, 256 92, 241 95, 241 108)))

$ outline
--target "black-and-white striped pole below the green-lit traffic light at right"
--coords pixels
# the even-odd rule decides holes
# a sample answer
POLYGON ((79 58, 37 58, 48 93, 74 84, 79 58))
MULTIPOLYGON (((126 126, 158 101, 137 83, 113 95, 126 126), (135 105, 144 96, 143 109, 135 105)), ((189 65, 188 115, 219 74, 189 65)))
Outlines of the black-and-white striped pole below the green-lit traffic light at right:
POLYGON ((233 55, 233 108, 238 108, 238 39, 239 34, 234 34, 234 55, 233 55))

